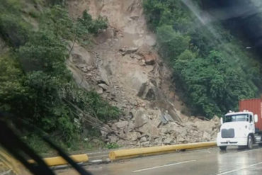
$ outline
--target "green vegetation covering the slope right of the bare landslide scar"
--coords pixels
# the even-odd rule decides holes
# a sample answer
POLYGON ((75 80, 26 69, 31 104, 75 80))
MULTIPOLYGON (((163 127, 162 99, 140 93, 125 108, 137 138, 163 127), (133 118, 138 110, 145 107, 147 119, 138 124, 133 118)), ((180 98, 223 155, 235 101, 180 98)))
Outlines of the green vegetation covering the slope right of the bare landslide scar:
POLYGON ((220 23, 203 25, 182 1, 143 5, 159 53, 173 67, 176 86, 195 115, 223 115, 237 109, 239 99, 258 96, 261 64, 220 23))

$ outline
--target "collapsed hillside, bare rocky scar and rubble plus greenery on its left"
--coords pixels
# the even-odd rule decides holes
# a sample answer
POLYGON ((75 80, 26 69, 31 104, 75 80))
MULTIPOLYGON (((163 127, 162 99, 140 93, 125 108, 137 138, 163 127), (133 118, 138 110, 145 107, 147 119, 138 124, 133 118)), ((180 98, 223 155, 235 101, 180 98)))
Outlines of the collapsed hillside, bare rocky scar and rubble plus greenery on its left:
MULTIPOLYGON (((0 109, 14 121, 34 123, 69 149, 215 139, 218 118, 190 116, 177 95, 142 1, 3 2, 0 109)), ((47 152, 36 133, 16 129, 47 152)))

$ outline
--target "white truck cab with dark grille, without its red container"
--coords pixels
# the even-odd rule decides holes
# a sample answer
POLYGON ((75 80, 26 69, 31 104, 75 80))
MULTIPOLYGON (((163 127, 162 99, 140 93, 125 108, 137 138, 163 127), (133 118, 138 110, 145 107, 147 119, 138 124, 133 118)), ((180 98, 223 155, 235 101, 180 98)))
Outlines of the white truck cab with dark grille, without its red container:
POLYGON ((261 142, 261 135, 256 135, 255 123, 258 115, 250 111, 229 112, 220 118, 221 128, 217 133, 217 146, 225 150, 227 146, 246 146, 261 142))

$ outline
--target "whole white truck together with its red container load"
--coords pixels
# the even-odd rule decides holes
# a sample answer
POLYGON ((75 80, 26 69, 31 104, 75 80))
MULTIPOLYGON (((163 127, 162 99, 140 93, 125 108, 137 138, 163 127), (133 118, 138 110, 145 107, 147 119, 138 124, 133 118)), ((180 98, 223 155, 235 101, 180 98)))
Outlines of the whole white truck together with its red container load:
POLYGON ((239 101, 239 111, 229 111, 220 118, 221 128, 217 133, 217 146, 226 150, 227 146, 252 149, 255 143, 262 146, 261 99, 239 101))

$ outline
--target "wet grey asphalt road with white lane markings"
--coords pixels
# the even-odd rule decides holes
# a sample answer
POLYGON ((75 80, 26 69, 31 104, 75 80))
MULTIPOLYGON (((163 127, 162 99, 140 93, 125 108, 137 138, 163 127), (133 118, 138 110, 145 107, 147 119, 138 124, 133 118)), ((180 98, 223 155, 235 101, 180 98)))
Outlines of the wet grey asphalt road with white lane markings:
MULTIPOLYGON (((84 167, 93 175, 261 175, 262 148, 247 150, 229 147, 227 152, 220 152, 219 148, 214 147, 84 167)), ((72 169, 59 170, 57 173, 76 174, 72 169)))

